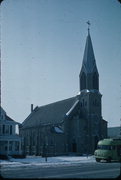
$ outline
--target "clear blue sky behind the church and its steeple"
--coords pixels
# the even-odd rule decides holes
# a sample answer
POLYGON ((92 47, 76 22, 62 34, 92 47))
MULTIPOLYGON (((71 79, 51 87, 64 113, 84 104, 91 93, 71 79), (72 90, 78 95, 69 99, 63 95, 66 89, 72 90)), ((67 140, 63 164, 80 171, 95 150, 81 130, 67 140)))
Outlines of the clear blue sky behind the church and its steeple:
POLYGON ((102 115, 121 117, 121 4, 114 0, 4 0, 1 5, 2 106, 22 122, 30 104, 76 96, 90 20, 102 115))

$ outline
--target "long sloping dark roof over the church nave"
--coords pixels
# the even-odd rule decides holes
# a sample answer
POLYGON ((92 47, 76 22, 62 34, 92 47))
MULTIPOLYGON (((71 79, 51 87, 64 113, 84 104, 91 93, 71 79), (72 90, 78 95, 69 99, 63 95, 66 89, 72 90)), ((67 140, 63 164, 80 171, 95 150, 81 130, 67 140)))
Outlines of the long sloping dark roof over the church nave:
POLYGON ((71 109, 76 101, 77 99, 75 96, 48 105, 36 107, 22 123, 22 128, 60 124, 63 122, 66 113, 71 109))

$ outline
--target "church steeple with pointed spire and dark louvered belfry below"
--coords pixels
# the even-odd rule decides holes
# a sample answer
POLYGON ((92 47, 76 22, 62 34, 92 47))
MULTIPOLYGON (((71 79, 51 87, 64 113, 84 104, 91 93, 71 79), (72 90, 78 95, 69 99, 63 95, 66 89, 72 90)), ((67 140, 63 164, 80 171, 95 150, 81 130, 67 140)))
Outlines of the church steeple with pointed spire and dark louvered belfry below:
POLYGON ((79 79, 80 91, 84 89, 99 90, 99 74, 96 66, 89 27, 79 79))

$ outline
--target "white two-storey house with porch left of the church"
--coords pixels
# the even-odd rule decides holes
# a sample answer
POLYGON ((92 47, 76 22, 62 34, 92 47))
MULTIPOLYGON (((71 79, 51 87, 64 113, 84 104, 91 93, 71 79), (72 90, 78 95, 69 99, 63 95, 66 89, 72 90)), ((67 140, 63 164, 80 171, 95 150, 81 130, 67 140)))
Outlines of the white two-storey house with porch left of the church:
POLYGON ((0 107, 0 156, 21 155, 21 137, 16 133, 19 123, 0 107))

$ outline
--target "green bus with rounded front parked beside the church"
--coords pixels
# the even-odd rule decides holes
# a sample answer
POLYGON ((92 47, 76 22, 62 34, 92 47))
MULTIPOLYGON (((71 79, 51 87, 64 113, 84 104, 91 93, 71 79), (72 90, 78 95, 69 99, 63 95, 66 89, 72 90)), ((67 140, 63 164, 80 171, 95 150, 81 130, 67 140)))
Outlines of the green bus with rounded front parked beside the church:
POLYGON ((121 138, 103 139, 98 142, 97 150, 94 152, 97 162, 106 160, 120 161, 121 160, 121 138))

